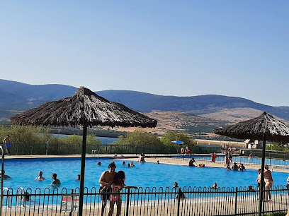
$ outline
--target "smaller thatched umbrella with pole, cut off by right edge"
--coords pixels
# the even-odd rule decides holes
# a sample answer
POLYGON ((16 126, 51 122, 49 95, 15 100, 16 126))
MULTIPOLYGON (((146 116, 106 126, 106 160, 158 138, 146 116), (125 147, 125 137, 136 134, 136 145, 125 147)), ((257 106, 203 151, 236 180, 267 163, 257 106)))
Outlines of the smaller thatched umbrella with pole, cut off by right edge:
MULTIPOLYGON (((289 142, 289 127, 266 112, 263 112, 261 116, 254 119, 242 121, 225 128, 215 129, 214 133, 232 138, 263 140, 261 179, 263 179, 265 165, 266 140, 278 141, 280 143, 289 142)), ((262 210, 262 195, 263 181, 261 181, 259 193, 259 215, 261 215, 262 210)))

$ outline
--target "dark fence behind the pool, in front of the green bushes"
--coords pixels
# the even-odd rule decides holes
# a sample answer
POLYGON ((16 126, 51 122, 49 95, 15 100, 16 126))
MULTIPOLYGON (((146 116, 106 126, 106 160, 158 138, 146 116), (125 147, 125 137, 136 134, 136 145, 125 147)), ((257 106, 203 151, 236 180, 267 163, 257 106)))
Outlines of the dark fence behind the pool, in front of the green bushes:
MULTIPOLYGON (((97 150, 99 154, 177 154, 179 146, 169 145, 86 145, 86 153, 97 150)), ((220 152, 220 148, 190 147, 193 153, 205 154, 220 152)), ((77 155, 81 154, 81 144, 13 144, 12 155, 77 155)))

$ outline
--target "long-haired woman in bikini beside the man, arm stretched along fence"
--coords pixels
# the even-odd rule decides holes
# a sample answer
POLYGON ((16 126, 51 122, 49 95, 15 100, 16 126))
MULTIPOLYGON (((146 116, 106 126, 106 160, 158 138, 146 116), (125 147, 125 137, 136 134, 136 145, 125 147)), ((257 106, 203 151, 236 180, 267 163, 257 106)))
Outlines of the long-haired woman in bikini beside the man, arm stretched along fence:
POLYGON ((135 186, 126 186, 125 185, 125 172, 123 171, 118 171, 115 174, 115 177, 113 178, 113 188, 112 188, 112 194, 110 197, 110 211, 108 212, 108 216, 113 215, 113 207, 114 204, 116 203, 116 215, 120 215, 120 210, 121 210, 121 195, 120 191, 123 190, 123 188, 135 188, 135 186))

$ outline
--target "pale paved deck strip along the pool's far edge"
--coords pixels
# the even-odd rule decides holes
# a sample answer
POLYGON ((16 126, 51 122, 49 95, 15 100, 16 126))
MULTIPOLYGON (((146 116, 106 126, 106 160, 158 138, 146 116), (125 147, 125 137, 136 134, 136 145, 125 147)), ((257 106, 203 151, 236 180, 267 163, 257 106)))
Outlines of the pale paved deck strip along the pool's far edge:
MULTIPOLYGON (((10 155, 10 156, 5 156, 6 160, 9 159, 35 159, 35 158, 80 158, 81 155, 10 155)), ((89 157, 94 157, 93 155, 89 155, 86 154, 86 158, 89 157)), ((124 154, 124 155, 118 155, 117 157, 115 157, 115 155, 99 155, 99 157, 111 157, 112 159, 115 160, 130 160, 133 162, 137 162, 138 161, 138 157, 137 155, 132 155, 132 154, 124 154)), ((187 166, 188 165, 188 160, 183 160, 182 158, 169 158, 166 155, 147 155, 147 157, 145 157, 145 161, 146 162, 152 162, 152 163, 157 163, 157 160, 159 160, 159 162, 161 164, 174 164, 174 165, 181 165, 181 166, 187 166)), ((198 163, 198 160, 196 159, 196 162, 198 163)), ((225 164, 220 163, 220 162, 209 162, 209 161, 205 161, 202 162, 203 164, 205 164, 205 167, 217 167, 217 168, 224 168, 225 169, 225 164)), ((246 165, 246 169, 259 169, 261 168, 258 166, 254 166, 254 165, 246 165)), ((287 169, 285 168, 281 168, 281 167, 273 167, 273 172, 284 172, 284 173, 289 173, 289 167, 287 169)))

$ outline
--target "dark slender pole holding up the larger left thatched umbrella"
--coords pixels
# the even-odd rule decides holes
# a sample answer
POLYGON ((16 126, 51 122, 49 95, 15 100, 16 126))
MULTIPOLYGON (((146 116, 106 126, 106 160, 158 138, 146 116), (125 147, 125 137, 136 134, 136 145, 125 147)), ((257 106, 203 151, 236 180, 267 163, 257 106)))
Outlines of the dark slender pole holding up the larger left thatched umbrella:
POLYGON ((79 186, 79 216, 82 216, 84 206, 84 172, 85 172, 85 156, 86 156, 86 136, 87 124, 84 123, 82 134, 82 152, 81 152, 81 172, 80 172, 80 186, 79 186))

